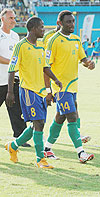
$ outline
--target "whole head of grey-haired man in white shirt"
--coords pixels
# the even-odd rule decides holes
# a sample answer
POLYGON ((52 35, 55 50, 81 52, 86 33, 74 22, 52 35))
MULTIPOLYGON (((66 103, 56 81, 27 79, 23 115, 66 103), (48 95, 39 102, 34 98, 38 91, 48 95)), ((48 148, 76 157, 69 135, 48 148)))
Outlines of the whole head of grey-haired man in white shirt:
POLYGON ((12 9, 4 8, 0 14, 2 26, 6 29, 12 29, 15 27, 15 12, 12 9))

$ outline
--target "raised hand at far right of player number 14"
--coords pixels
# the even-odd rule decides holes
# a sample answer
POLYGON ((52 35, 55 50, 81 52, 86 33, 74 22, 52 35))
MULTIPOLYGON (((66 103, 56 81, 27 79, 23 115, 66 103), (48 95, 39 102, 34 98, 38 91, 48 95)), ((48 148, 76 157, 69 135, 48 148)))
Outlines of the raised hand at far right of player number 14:
POLYGON ((87 67, 90 70, 93 70, 95 68, 95 63, 92 60, 89 60, 88 58, 83 58, 81 60, 81 62, 83 63, 83 66, 87 67))

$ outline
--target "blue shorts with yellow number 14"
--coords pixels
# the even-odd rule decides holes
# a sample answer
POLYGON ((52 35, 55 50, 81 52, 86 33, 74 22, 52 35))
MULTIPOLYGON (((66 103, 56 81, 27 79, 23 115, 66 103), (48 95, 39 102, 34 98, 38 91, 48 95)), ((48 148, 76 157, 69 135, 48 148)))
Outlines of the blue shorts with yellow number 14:
POLYGON ((59 92, 55 94, 56 108, 60 115, 76 112, 76 93, 59 92))

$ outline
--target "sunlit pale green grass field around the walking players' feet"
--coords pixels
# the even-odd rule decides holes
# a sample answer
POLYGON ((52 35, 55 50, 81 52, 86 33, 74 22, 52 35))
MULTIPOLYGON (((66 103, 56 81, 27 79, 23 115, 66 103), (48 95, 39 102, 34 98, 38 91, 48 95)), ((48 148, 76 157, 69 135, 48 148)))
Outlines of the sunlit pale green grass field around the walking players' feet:
MULTIPOLYGON (((81 134, 90 135, 91 141, 84 144, 88 153, 95 158, 87 164, 78 161, 77 153, 68 136, 67 121, 61 135, 53 146, 60 160, 48 162, 53 170, 38 169, 35 166, 35 150, 19 148, 19 162, 14 164, 5 151, 6 142, 13 139, 8 114, 3 104, 0 112, 0 197, 99 197, 100 196, 100 61, 90 71, 79 64, 78 108, 81 117, 81 134)), ((45 138, 53 120, 56 107, 48 108, 45 138)))

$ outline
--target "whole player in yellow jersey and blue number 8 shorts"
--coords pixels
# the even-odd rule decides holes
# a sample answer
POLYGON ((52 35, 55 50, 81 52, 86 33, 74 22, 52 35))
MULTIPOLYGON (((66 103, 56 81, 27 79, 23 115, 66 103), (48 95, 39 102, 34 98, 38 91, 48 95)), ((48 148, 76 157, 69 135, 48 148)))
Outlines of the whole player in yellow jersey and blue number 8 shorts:
POLYGON ((31 17, 27 21, 27 37, 18 42, 13 51, 9 64, 8 93, 6 102, 9 107, 14 103, 14 74, 19 71, 20 77, 20 104, 25 122, 31 121, 32 126, 26 128, 21 136, 5 145, 10 153, 10 159, 17 162, 17 149, 23 140, 27 141, 33 135, 37 156, 37 167, 53 168, 44 158, 43 128, 46 121, 46 88, 43 72, 62 88, 62 83, 52 73, 50 66, 45 66, 44 48, 39 45, 37 38, 44 35, 43 21, 38 17, 31 17), (33 125, 34 124, 34 125, 33 125), (33 130, 34 128, 34 130, 33 130))

